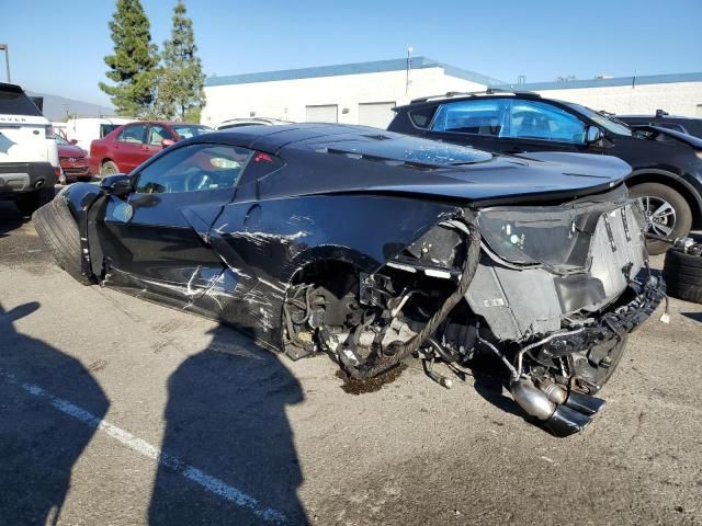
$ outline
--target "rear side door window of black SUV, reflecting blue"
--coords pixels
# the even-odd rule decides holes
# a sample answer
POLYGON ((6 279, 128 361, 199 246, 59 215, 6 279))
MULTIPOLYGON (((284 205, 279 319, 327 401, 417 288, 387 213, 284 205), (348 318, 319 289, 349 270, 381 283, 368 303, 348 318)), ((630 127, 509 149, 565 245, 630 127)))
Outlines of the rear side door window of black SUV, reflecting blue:
POLYGON ((431 129, 499 137, 506 102, 502 99, 484 99, 442 104, 434 116, 431 129))

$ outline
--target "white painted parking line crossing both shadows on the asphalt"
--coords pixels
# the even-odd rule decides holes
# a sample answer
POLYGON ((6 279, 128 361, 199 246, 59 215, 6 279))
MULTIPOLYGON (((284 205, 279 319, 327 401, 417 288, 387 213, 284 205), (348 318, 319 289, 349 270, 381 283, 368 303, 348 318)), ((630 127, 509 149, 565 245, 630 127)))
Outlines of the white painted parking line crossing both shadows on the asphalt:
POLYGON ((262 506, 261 503, 256 499, 244 493, 237 488, 234 488, 223 480, 217 479, 216 477, 212 477, 204 471, 194 468, 193 466, 189 466, 178 457, 174 457, 167 451, 160 450, 158 447, 152 446, 148 442, 134 436, 128 431, 117 427, 116 425, 113 425, 110 422, 95 416, 94 414, 69 402, 68 400, 55 397, 54 395, 38 386, 22 382, 13 374, 8 373, 2 368, 0 368, 0 376, 7 379, 9 382, 20 386, 30 395, 48 401, 55 409, 57 409, 61 413, 67 414, 68 416, 71 416, 92 428, 100 430, 106 433, 111 437, 120 441, 129 449, 133 449, 144 455, 145 457, 157 460, 162 466, 166 466, 167 468, 182 474, 185 479, 199 484, 206 491, 214 493, 215 495, 218 495, 239 507, 250 510, 254 515, 265 521, 267 523, 285 524, 287 522, 282 513, 273 508, 262 506))

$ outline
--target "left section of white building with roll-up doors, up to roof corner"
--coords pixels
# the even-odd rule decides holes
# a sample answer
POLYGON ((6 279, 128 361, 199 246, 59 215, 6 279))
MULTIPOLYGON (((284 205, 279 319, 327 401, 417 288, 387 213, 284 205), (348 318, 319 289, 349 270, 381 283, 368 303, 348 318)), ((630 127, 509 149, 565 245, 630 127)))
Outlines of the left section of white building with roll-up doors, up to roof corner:
POLYGON ((211 77, 202 124, 228 118, 365 124, 384 128, 414 98, 500 83, 424 57, 211 77))

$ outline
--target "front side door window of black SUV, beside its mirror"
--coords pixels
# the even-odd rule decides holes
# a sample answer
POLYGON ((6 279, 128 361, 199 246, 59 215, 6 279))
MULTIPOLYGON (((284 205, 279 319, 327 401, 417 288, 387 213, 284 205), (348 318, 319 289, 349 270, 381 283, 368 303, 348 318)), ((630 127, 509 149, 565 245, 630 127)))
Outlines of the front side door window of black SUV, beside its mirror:
POLYGON ((502 137, 585 144, 585 123, 559 107, 536 101, 514 100, 502 137))

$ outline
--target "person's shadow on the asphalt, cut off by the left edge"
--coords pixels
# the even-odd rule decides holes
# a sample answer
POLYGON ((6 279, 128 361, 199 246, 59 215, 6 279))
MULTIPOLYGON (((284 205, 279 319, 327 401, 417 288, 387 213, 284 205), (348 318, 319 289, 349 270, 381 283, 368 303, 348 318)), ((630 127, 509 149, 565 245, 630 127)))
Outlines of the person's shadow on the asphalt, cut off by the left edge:
POLYGON ((94 427, 59 411, 68 400, 98 419, 110 402, 82 364, 18 332, 36 301, 0 305, 0 524, 56 524, 71 469, 94 427), (38 390, 41 389, 41 390, 38 390))

